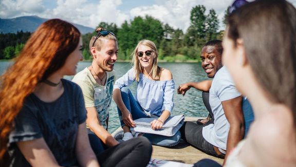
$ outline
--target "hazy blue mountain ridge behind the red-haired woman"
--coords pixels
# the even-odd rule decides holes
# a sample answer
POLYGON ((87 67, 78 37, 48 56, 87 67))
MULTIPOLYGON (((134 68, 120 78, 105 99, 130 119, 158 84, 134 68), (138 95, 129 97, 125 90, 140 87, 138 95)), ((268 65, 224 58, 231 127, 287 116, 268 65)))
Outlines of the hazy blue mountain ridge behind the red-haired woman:
MULTIPOLYGON (((16 33, 17 31, 33 32, 38 26, 47 20, 47 18, 41 18, 38 16, 22 16, 7 19, 0 18, 0 33, 16 33)), ((94 28, 79 24, 73 25, 75 25, 82 34, 95 31, 94 28)))

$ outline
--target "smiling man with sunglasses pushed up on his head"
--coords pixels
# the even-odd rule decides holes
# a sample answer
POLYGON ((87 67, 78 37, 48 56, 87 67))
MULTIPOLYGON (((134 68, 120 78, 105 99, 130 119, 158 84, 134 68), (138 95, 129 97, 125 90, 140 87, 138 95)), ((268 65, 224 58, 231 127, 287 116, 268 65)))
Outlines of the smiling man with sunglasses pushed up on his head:
POLYGON ((87 110, 87 131, 90 145, 100 153, 119 142, 108 133, 109 107, 113 85, 116 80, 114 63, 117 60, 118 44, 113 32, 96 29, 97 35, 89 41, 93 61, 72 79, 83 92, 87 110))

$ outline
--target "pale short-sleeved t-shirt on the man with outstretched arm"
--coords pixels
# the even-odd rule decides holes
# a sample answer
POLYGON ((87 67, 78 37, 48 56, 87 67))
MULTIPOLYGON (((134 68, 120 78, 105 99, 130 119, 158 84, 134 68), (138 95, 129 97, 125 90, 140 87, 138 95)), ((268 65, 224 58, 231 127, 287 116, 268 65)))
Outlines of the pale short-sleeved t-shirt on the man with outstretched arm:
POLYGON ((214 114, 214 124, 203 127, 202 136, 209 143, 223 150, 226 150, 230 124, 225 117, 221 102, 238 96, 241 96, 241 93, 236 89, 230 73, 225 66, 221 67, 217 71, 210 88, 209 102, 214 114))

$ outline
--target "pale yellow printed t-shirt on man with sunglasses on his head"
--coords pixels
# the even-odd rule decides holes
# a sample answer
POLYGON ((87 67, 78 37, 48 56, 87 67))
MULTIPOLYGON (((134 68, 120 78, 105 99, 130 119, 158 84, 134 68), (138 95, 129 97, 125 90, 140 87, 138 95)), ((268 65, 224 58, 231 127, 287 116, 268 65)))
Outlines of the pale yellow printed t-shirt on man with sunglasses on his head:
POLYGON ((100 122, 107 129, 107 121, 109 117, 109 107, 112 100, 113 85, 116 80, 115 71, 106 71, 107 79, 105 85, 96 82, 93 75, 87 69, 78 72, 73 82, 77 83, 83 92, 85 107, 96 107, 100 122))

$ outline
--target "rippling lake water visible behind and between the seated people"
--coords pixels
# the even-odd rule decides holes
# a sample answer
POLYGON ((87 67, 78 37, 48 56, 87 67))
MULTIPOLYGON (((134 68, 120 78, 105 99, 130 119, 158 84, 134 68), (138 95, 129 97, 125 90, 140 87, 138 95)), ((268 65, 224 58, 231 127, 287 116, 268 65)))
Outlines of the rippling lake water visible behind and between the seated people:
MULTIPOLYGON (((0 62, 0 75, 2 75, 5 69, 11 65, 12 62, 0 62)), ((81 71, 85 67, 89 66, 90 62, 79 62, 78 71, 81 71)), ((185 82, 199 82, 207 80, 208 77, 204 70, 201 68, 200 63, 159 63, 160 67, 167 68, 173 73, 173 79, 175 81, 175 94, 174 103, 175 107, 172 115, 183 114, 186 117, 206 117, 208 112, 204 103, 202 102, 201 91, 191 88, 186 96, 178 95, 177 88, 180 84, 185 82)), ((130 63, 115 63, 114 69, 116 70, 117 77, 121 77, 124 73, 131 68, 130 63)), ((65 79, 71 80, 73 76, 66 76, 65 79)), ((131 90, 135 94, 136 84, 131 85, 131 90)), ((117 127, 120 126, 117 107, 114 101, 112 101, 109 110, 109 127, 110 133, 114 132, 117 127)))

